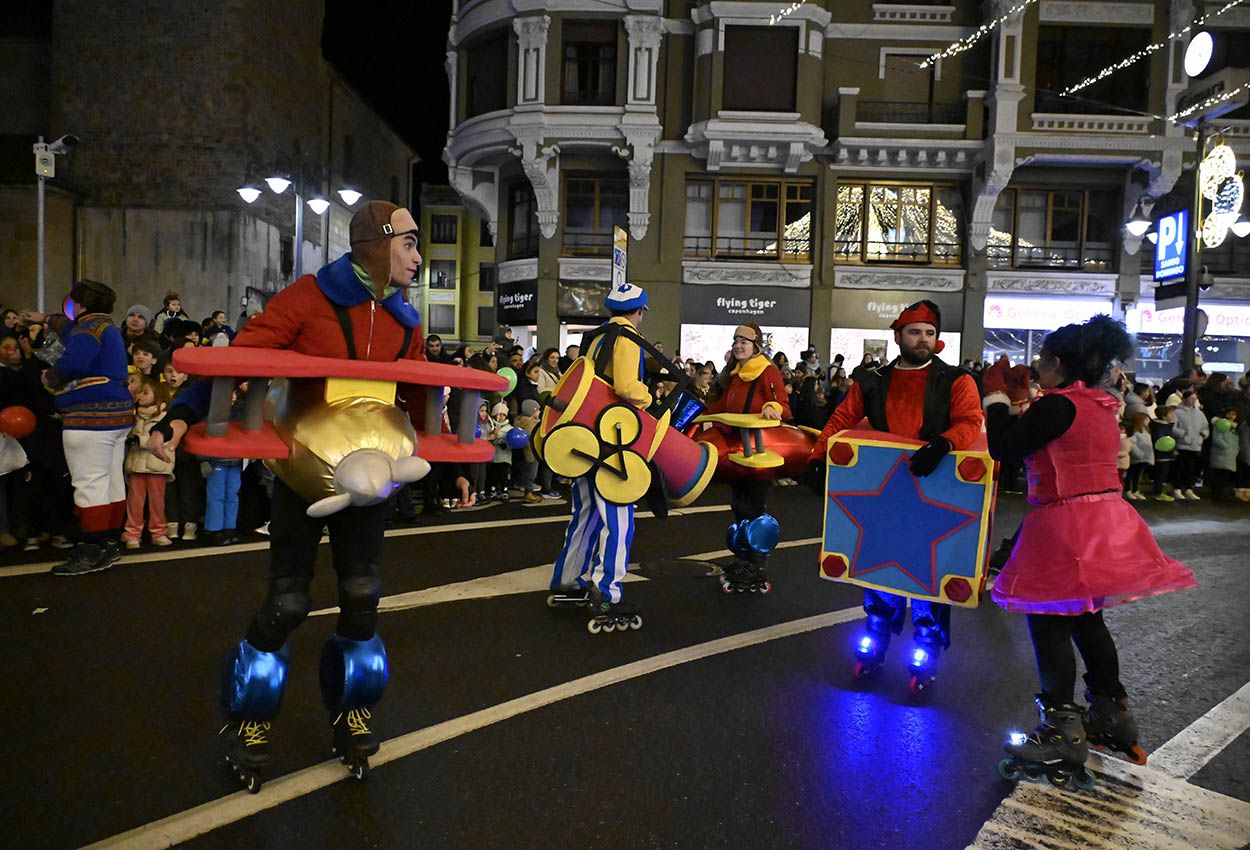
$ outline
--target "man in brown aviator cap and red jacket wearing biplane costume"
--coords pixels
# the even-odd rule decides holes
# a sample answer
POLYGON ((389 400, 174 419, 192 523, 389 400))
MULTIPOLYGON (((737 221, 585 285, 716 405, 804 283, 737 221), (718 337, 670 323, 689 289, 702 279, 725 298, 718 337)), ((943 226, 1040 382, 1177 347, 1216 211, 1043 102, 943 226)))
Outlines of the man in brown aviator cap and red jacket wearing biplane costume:
MULTIPOLYGON (((350 360, 424 360, 420 316, 405 291, 421 262, 411 212, 385 201, 369 201, 351 219, 351 251, 278 292, 231 342, 234 348, 284 349, 350 360)), ((190 424, 204 418, 210 381, 180 394, 169 415, 152 429, 150 448, 176 444, 190 424), (156 435, 160 435, 156 438, 156 435)), ((320 384, 294 388, 314 395, 320 384)), ((384 424, 375 424, 378 429, 384 424)), ((332 439, 332 434, 322 434, 332 439)), ((371 711, 386 685, 386 650, 376 634, 381 555, 389 500, 349 506, 332 515, 309 515, 310 502, 294 464, 275 465, 278 476, 270 516, 269 592, 248 632, 230 651, 221 680, 221 706, 229 719, 228 759, 249 791, 260 789, 269 765, 270 722, 281 706, 286 684, 288 636, 309 614, 309 586, 321 534, 329 528, 339 584, 335 634, 321 650, 321 695, 334 736, 334 750, 358 778, 378 751, 371 711)))

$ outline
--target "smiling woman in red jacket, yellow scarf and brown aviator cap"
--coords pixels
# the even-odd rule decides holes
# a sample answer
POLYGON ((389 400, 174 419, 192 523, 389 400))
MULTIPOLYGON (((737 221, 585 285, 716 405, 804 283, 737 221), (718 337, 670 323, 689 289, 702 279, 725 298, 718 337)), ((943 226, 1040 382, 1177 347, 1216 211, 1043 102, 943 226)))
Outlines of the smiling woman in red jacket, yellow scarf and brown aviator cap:
MULTIPOLYGON (((731 358, 720 372, 721 395, 708 405, 710 414, 758 414, 764 419, 790 419, 790 399, 781 370, 762 354, 764 332, 754 321, 734 330, 731 358)), ((709 441, 724 454, 729 450, 721 431, 709 441), (718 440, 718 438, 720 438, 718 440)), ((725 568, 724 586, 731 591, 766 591, 768 558, 776 546, 780 528, 768 512, 769 486, 776 470, 744 471, 730 484, 734 522, 725 532, 734 562, 725 568)))

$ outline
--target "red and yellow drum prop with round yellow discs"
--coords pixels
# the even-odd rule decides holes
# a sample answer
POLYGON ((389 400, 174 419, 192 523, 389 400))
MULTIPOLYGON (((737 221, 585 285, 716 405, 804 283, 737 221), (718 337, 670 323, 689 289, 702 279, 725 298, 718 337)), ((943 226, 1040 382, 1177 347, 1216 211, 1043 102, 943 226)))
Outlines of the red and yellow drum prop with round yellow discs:
POLYGON ((579 358, 551 392, 534 448, 556 474, 594 471, 600 495, 616 504, 646 492, 650 461, 664 478, 670 501, 680 508, 702 494, 716 471, 716 455, 672 428, 670 419, 671 411, 656 419, 622 401, 595 375, 594 362, 579 358))

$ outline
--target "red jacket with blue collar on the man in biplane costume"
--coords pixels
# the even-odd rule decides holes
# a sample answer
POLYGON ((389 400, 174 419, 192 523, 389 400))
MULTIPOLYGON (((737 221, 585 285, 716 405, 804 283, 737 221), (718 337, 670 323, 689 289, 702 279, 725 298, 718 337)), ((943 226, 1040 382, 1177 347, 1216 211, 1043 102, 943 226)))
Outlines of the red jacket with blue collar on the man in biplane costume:
POLYGON ((322 266, 316 275, 304 275, 269 299, 265 310, 244 325, 231 345, 346 359, 348 341, 331 298, 351 319, 358 360, 425 360, 425 338, 416 311, 400 292, 381 302, 375 300, 356 280, 350 254, 322 266), (411 336, 408 348, 400 351, 405 325, 411 336))

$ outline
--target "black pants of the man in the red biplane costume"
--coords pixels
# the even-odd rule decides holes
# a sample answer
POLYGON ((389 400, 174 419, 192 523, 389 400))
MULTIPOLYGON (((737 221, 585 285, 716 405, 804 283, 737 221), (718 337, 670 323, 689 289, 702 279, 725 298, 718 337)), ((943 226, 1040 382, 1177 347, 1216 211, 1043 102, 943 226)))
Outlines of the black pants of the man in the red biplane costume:
POLYGON ((312 519, 308 502, 281 480, 274 482, 269 524, 269 596, 248 629, 248 642, 275 652, 286 642, 310 608, 309 585, 321 541, 330 528, 330 551, 339 576, 339 624, 335 631, 351 640, 369 640, 378 626, 381 556, 390 501, 348 508, 325 519, 312 519))

